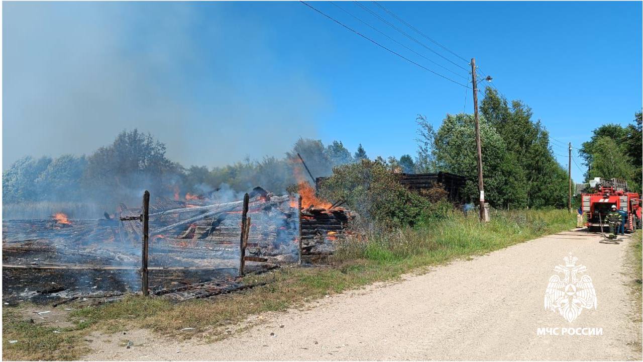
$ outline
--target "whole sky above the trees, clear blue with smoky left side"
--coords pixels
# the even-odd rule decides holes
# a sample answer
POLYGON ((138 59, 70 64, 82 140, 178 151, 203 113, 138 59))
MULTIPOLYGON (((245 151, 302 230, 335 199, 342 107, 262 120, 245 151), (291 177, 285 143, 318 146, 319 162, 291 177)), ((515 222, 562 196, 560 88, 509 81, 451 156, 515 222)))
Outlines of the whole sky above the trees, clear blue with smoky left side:
MULTIPOLYGON (((331 3, 311 4, 458 79, 331 3)), ((441 50, 374 3, 362 4, 441 50)), ((358 5, 338 5, 467 76, 358 5)), ((579 147, 592 129, 627 124, 641 108, 640 2, 383 5, 475 57, 559 142, 579 147)), ((281 156, 298 137, 399 157, 415 154, 417 114, 439 126, 446 113, 473 111, 470 91, 298 2, 4 3, 3 53, 3 169, 24 155, 88 154, 134 127, 186 166, 281 156)), ((566 148, 554 142, 554 152, 566 148)), ((572 166, 572 176, 582 173, 572 166)))

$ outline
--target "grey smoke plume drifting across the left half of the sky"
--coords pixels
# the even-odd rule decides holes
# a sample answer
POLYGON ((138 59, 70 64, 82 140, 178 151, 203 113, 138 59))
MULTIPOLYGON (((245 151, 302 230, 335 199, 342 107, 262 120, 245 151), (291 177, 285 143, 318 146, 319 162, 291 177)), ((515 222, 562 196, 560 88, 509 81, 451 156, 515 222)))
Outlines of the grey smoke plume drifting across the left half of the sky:
POLYGON ((268 22, 224 3, 3 10, 3 168, 26 154, 91 153, 135 127, 172 160, 206 166, 282 155, 315 133, 316 84, 278 66, 268 22))

